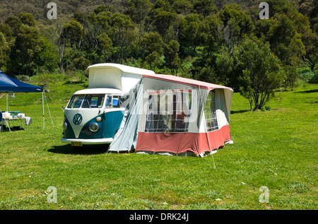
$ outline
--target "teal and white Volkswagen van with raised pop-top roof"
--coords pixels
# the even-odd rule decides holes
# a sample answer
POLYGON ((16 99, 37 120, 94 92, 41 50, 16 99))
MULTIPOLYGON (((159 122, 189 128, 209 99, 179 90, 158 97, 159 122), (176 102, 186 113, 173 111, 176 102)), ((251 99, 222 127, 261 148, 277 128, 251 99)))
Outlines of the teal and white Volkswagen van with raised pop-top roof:
POLYGON ((111 143, 119 129, 129 90, 151 70, 122 64, 95 64, 87 69, 88 89, 73 93, 64 109, 63 143, 71 146, 111 143))

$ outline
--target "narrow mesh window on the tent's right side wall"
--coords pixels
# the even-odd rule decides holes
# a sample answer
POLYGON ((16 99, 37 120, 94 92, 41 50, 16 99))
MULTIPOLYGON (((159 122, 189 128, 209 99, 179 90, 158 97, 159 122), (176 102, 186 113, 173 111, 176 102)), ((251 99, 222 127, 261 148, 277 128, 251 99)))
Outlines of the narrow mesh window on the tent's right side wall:
POLYGON ((204 105, 204 115, 206 117, 206 130, 217 130, 218 119, 216 118, 216 95, 213 93, 213 91, 210 91, 208 93, 206 105, 204 105))

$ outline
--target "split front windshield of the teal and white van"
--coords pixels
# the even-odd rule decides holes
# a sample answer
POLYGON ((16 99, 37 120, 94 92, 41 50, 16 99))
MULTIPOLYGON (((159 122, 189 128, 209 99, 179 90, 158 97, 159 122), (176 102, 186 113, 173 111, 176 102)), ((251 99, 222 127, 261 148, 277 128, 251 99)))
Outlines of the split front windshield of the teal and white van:
POLYGON ((67 108, 100 108, 105 95, 73 95, 67 108))

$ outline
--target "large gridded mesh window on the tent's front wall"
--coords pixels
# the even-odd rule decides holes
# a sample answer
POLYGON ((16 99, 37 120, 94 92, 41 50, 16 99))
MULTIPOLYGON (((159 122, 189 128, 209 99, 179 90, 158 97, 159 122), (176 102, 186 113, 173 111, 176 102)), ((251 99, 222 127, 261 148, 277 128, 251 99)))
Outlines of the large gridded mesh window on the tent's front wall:
POLYGON ((145 132, 188 132, 191 90, 148 92, 145 132))

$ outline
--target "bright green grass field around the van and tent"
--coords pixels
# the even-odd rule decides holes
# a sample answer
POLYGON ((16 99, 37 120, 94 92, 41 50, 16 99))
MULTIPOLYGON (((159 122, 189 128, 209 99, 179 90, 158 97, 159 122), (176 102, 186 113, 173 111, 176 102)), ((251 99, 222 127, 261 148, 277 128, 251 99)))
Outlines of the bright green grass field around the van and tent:
MULTIPOLYGON (((10 110, 33 117, 24 131, 0 133, 0 209, 317 209, 318 85, 278 92, 271 110, 249 111, 235 93, 234 144, 205 158, 76 151, 61 143, 71 93, 87 83, 49 83, 42 95, 16 93, 10 110), (216 168, 213 167, 213 159, 216 168), (47 189, 57 188, 57 203, 47 189), (259 202, 269 189, 269 202, 259 202)), ((6 97, 0 95, 5 110, 6 97)))

